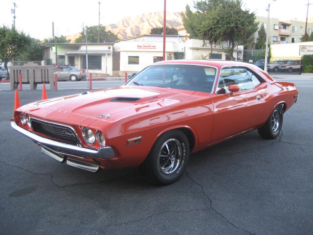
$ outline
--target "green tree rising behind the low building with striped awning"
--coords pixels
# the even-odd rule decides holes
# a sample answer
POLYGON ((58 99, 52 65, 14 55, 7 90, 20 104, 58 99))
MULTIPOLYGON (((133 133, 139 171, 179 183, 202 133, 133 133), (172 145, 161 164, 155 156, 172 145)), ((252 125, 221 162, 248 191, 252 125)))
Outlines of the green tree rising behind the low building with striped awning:
MULTIPOLYGON (((98 42, 98 25, 87 26, 87 37, 88 43, 98 42)), ((106 27, 100 24, 100 42, 113 43, 116 40, 118 40, 117 35, 110 30, 106 31, 106 27)), ((84 31, 80 32, 80 36, 75 40, 75 43, 86 43, 84 31)))

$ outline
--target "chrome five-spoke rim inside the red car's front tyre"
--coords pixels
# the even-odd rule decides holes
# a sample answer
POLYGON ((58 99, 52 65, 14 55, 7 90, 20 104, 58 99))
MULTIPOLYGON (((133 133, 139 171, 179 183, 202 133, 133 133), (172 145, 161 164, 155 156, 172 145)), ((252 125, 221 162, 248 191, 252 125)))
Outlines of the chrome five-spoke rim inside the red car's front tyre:
POLYGON ((158 153, 158 168, 164 174, 173 173, 182 158, 182 146, 176 139, 165 141, 158 153))

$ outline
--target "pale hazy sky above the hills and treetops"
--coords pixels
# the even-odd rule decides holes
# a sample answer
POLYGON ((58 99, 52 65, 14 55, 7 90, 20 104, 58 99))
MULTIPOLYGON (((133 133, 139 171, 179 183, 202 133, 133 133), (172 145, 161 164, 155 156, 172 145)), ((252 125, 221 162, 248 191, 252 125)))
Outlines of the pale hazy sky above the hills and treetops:
MULTIPOLYGON (((52 36, 52 22, 59 25, 62 35, 77 33, 83 23, 98 24, 98 2, 100 4, 100 24, 116 23, 125 16, 134 16, 145 12, 163 11, 164 0, 3 0, 0 4, 0 24, 13 24, 11 9, 16 8, 16 28, 33 38, 52 36)), ((313 3, 313 0, 310 0, 313 3)), ((167 0, 168 11, 183 11, 186 4, 193 5, 194 0, 167 0)), ((297 19, 305 21, 308 0, 243 0, 244 5, 258 16, 267 16, 270 5, 270 17, 280 20, 297 19)), ((309 19, 313 20, 313 4, 309 6, 309 19)))

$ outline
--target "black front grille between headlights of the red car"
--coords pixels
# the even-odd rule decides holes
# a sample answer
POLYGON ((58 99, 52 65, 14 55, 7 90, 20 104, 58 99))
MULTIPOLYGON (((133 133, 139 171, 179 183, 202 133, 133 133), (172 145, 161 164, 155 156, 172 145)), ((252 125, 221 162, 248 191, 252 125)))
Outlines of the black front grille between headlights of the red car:
POLYGON ((52 139, 79 145, 79 141, 74 131, 70 127, 34 118, 32 118, 30 121, 33 130, 38 134, 43 134, 47 137, 51 137, 52 139))

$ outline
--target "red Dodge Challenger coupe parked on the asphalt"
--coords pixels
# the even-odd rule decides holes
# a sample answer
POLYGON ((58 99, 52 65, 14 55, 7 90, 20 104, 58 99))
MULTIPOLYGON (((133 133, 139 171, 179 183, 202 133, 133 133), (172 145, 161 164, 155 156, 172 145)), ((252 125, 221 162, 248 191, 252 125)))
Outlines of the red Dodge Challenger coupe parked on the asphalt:
POLYGON ((251 64, 162 61, 118 88, 24 105, 11 126, 59 162, 93 172, 139 166, 167 185, 190 153, 255 129, 276 138, 297 98, 294 84, 251 64))

